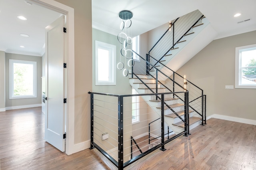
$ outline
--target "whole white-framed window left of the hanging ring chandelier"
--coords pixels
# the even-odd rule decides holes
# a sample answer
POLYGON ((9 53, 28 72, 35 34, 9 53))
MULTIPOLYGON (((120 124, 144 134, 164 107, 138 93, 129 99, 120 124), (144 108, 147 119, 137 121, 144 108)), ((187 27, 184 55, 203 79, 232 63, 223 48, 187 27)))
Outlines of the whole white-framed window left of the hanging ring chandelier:
POLYGON ((95 41, 95 85, 116 85, 116 45, 95 41))

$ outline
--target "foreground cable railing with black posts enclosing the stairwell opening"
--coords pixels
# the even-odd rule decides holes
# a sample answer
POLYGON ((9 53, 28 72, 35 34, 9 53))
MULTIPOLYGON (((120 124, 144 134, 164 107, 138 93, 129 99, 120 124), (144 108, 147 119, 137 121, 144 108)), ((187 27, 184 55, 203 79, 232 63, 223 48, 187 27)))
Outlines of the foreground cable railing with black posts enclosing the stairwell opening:
MULTIPOLYGON (((188 91, 134 95, 114 95, 93 92, 89 92, 89 94, 91 99, 90 149, 96 148, 99 150, 119 170, 122 170, 158 148, 162 151, 166 150, 166 143, 181 135, 188 136, 189 134, 187 126, 188 91), (164 103, 167 102, 165 99, 168 98, 168 95, 173 94, 182 94, 184 96, 183 101, 180 101, 182 103, 180 109, 185 113, 185 122, 182 123, 182 127, 177 126, 180 129, 179 132, 166 138, 166 130, 168 131, 169 129, 164 125, 166 112, 166 105, 164 103), (160 99, 157 102, 153 102, 151 98, 155 98, 156 95, 160 99), (132 118, 134 117, 132 115, 132 111, 134 110, 132 107, 132 97, 134 96, 140 96, 144 99, 138 101, 140 105, 140 122, 136 124, 132 124, 132 118), (158 119, 156 124, 151 123, 156 119, 158 119), (149 123, 150 134, 148 135, 149 123), (148 144, 148 140, 152 141, 151 144, 154 143, 154 145, 148 144)), ((168 126, 172 126, 172 129, 176 128, 175 125, 168 126)))

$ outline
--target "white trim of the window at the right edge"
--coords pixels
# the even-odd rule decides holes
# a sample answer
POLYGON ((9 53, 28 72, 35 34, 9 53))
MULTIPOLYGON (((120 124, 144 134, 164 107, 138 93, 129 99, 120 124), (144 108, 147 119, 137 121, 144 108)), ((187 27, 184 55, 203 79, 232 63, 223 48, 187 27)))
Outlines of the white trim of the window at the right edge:
POLYGON ((241 50, 256 49, 256 44, 245 45, 242 47, 236 47, 236 60, 235 60, 235 88, 242 89, 256 89, 256 85, 242 84, 242 58, 240 55, 241 50))

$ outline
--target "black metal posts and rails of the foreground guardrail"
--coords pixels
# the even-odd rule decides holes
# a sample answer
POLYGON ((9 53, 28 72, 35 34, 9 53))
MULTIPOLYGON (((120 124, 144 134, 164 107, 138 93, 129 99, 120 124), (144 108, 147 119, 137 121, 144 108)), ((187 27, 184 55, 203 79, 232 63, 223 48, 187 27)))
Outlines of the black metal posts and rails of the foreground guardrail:
POLYGON ((173 94, 174 92, 168 92, 168 93, 152 93, 152 94, 134 94, 134 95, 113 95, 113 94, 106 94, 106 93, 92 93, 92 92, 88 92, 90 94, 90 99, 91 99, 91 147, 90 149, 96 148, 98 149, 104 156, 106 156, 106 158, 108 158, 108 160, 110 160, 119 170, 123 170, 126 166, 132 164, 133 162, 135 162, 136 160, 146 156, 147 154, 153 152, 154 150, 160 148, 160 150, 164 151, 166 150, 164 148, 164 145, 168 142, 170 142, 171 140, 173 140, 174 138, 177 138, 178 136, 181 136, 182 134, 184 134, 184 136, 188 136, 189 134, 189 127, 188 125, 188 110, 186 108, 188 108, 188 91, 180 91, 180 92, 175 92, 175 93, 184 93, 184 101, 186 101, 184 103, 185 105, 185 120, 186 122, 184 123, 184 131, 180 132, 179 134, 177 134, 176 136, 165 140, 164 141, 164 95, 170 95, 173 94), (94 125, 94 100, 95 97, 94 95, 106 95, 106 96, 114 96, 118 98, 118 102, 116 105, 116 107, 118 108, 118 110, 116 111, 116 113, 118 113, 118 159, 115 160, 112 156, 110 156, 104 149, 101 148, 101 146, 99 146, 97 144, 98 140, 93 140, 94 139, 94 128, 96 128, 94 125), (162 134, 162 140, 161 143, 154 146, 151 149, 148 149, 145 152, 142 152, 140 155, 128 160, 127 162, 124 162, 124 116, 123 116, 123 111, 124 111, 124 97, 132 97, 132 96, 148 96, 148 95, 161 95, 161 134, 162 134))

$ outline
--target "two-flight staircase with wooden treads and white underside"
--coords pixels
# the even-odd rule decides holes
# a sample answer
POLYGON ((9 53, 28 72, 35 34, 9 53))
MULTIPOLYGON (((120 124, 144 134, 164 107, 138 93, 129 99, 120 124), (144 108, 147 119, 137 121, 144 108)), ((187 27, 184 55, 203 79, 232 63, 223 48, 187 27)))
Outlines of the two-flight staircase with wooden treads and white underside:
MULTIPOLYGON (((130 85, 140 94, 189 91, 189 128, 192 129, 200 124, 204 125, 205 95, 202 89, 170 68, 174 67, 177 70, 197 53, 195 50, 201 50, 198 47, 190 49, 194 46, 196 39, 203 39, 203 42, 208 44, 213 40, 215 34, 214 32, 212 34, 208 33, 207 37, 202 38, 202 35, 211 31, 212 28, 207 18, 198 10, 176 19, 172 23, 172 29, 170 31, 171 28, 168 28, 149 51, 146 59, 136 53, 145 61, 146 65, 145 67, 136 68, 136 73, 132 72, 130 74, 130 85), (184 55, 190 52, 186 49, 190 49, 194 55, 184 55), (186 52, 184 53, 184 51, 186 52)), ((142 98, 161 116, 159 97, 142 96, 142 98)), ((175 134, 179 134, 184 130, 185 109, 184 100, 182 100, 184 98, 182 95, 170 94, 166 95, 164 99, 164 121, 175 134)), ((158 142, 155 141, 154 143, 158 144, 158 142)))

